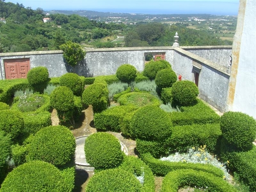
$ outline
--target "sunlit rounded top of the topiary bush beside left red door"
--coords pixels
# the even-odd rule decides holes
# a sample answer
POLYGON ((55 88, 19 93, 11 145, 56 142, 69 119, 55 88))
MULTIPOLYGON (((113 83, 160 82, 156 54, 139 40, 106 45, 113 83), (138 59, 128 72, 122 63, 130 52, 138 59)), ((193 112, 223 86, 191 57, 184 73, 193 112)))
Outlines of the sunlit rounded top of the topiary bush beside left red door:
POLYGON ((31 85, 44 83, 48 78, 49 73, 46 67, 35 67, 29 70, 27 74, 27 79, 31 85))

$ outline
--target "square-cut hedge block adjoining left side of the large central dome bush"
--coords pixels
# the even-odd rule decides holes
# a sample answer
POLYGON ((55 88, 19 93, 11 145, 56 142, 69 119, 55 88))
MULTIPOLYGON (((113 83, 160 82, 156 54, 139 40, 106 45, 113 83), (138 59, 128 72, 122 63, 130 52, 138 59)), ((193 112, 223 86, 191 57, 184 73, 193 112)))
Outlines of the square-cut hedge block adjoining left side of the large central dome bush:
POLYGON ((134 111, 133 105, 116 106, 109 108, 102 113, 94 114, 94 125, 97 130, 120 131, 119 120, 126 113, 134 111))

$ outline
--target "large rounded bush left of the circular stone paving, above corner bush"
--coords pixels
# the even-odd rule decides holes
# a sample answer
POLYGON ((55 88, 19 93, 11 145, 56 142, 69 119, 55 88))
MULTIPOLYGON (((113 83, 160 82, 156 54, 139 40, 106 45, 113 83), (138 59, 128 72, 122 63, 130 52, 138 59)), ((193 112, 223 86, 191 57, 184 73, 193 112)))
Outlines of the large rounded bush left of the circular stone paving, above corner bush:
POLYGON ((42 160, 63 167, 74 160, 76 140, 72 132, 62 126, 48 126, 35 134, 29 144, 27 159, 42 160))

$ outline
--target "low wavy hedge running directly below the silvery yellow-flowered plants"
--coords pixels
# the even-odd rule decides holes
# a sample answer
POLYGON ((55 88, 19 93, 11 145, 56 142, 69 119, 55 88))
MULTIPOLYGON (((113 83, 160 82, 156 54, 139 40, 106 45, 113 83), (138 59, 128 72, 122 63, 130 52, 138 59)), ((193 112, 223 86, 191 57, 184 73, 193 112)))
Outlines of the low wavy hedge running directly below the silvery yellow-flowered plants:
POLYGON ((152 172, 158 176, 165 176, 169 172, 179 169, 193 169, 195 171, 207 172, 220 178, 224 176, 224 172, 221 169, 210 164, 162 161, 155 159, 149 153, 142 154, 140 158, 148 165, 152 172))

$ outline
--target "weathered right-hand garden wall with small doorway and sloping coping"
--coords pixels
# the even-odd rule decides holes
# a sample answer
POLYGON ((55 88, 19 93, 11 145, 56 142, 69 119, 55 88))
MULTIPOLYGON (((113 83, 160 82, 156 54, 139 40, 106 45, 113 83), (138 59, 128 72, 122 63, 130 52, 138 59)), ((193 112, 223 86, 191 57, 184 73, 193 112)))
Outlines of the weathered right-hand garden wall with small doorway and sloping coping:
POLYGON ((227 68, 201 58, 181 48, 174 51, 173 70, 183 80, 195 82, 194 73, 199 73, 199 96, 219 111, 224 112, 227 100, 229 73, 227 68))

